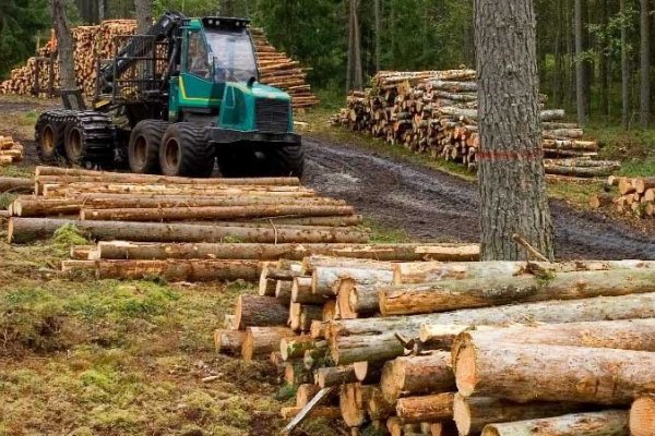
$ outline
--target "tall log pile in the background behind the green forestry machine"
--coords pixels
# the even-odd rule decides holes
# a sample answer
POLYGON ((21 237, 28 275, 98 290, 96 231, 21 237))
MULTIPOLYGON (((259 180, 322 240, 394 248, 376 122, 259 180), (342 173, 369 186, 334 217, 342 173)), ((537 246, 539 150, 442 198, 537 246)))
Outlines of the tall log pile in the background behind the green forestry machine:
MULTIPOLYGON (((115 50, 114 38, 132 35, 135 29, 136 23, 133 20, 108 20, 99 25, 71 29, 78 86, 84 94, 95 94, 96 64, 98 61, 111 59, 115 50)), ((261 82, 289 93, 296 109, 318 105, 319 101, 307 83, 306 70, 269 44, 263 31, 253 28, 252 36, 261 82)), ((38 50, 37 57, 29 58, 26 65, 12 70, 10 77, 0 83, 0 94, 49 94, 50 70, 53 74, 52 86, 59 86, 56 56, 57 40, 52 36, 48 44, 38 50)))

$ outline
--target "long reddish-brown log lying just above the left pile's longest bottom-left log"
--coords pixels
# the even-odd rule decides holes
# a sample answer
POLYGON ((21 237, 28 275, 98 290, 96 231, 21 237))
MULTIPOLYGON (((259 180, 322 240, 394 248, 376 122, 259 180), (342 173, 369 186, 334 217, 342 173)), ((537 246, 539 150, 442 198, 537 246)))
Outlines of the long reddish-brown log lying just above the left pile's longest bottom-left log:
POLYGON ((354 214, 353 206, 257 205, 80 210, 90 221, 199 221, 269 217, 333 217, 354 214))

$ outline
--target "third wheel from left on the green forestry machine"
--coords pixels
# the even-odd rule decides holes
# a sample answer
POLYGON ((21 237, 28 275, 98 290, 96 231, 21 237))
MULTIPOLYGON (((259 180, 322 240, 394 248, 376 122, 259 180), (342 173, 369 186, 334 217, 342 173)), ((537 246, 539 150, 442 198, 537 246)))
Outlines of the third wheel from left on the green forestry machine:
POLYGON ((132 172, 159 172, 159 146, 168 125, 166 121, 144 120, 132 129, 128 147, 128 161, 132 172))

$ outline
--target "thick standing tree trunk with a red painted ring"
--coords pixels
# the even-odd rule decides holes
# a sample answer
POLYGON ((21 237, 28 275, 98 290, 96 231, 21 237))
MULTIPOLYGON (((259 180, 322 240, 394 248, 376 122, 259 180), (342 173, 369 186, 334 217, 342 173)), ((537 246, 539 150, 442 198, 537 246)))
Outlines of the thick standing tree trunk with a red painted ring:
POLYGON ((526 258, 527 254, 512 242, 514 233, 552 258, 552 225, 541 162, 533 2, 479 0, 475 2, 475 16, 481 258, 526 258))

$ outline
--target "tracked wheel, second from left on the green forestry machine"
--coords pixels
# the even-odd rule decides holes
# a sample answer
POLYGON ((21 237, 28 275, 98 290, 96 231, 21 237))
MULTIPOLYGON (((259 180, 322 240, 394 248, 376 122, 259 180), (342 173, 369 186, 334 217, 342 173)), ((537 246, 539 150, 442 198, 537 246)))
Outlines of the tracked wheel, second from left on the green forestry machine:
POLYGON ((114 125, 105 113, 73 112, 64 132, 63 148, 70 164, 105 167, 114 161, 114 125))

